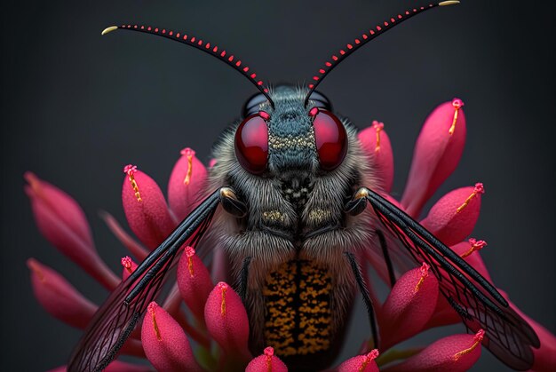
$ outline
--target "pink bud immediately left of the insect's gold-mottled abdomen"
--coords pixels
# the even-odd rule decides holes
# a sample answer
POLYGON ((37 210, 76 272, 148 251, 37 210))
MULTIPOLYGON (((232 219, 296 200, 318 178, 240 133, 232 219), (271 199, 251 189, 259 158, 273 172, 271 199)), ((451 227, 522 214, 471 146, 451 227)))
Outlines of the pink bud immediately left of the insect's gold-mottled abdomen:
POLYGON ((204 307, 204 320, 210 336, 228 353, 250 360, 247 342, 249 321, 242 299, 234 289, 220 281, 210 292, 204 307))

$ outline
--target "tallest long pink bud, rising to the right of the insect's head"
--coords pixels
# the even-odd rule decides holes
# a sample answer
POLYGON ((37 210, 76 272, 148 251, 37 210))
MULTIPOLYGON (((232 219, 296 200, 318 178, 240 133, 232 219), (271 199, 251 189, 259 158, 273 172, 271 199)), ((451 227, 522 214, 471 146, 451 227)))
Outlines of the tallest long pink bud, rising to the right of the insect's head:
POLYGON ((418 217, 425 202, 456 169, 465 146, 464 103, 453 99, 426 118, 417 139, 401 205, 418 217))

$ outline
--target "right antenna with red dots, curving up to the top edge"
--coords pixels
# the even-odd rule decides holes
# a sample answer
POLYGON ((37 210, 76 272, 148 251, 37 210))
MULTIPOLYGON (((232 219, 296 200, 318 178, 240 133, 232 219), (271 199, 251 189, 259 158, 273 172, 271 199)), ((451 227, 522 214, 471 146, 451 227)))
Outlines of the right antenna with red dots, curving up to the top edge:
POLYGON ((310 83, 308 85, 309 92, 306 95, 305 105, 307 105, 307 103, 309 102, 309 97, 311 96, 311 93, 313 93, 316 86, 322 82, 322 79, 324 79, 324 77, 328 75, 330 71, 334 69, 334 67, 337 67, 342 60, 352 55, 353 51, 357 51, 364 44, 369 43, 369 41, 376 38, 377 36, 381 36, 387 30, 394 28, 396 25, 399 25, 404 20, 409 20, 414 15, 417 15, 421 12, 428 11, 429 9, 433 9, 437 6, 452 5, 452 4, 459 4, 459 1, 443 1, 439 4, 428 4, 418 8, 410 9, 405 12, 401 12, 396 16, 390 18, 390 20, 385 20, 384 22, 378 24, 375 28, 369 29, 369 32, 365 32, 361 35, 361 38, 356 38, 353 44, 346 44, 346 48, 340 49, 338 51, 338 54, 333 54, 330 60, 327 60, 324 63, 324 67, 319 69, 319 73, 317 75, 314 75, 311 78, 313 83, 310 83))

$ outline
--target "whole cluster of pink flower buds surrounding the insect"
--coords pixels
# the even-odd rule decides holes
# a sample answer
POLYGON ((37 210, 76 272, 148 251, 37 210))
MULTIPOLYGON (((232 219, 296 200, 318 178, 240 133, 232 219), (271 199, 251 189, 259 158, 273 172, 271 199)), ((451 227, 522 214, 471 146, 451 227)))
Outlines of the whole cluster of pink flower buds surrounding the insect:
MULTIPOLYGON (((463 102, 459 99, 433 110, 417 139, 408 185, 401 201, 387 194, 393 186, 393 151, 384 124, 373 122, 371 127, 361 131, 362 149, 369 155, 369 162, 376 170, 377 185, 382 188, 378 191, 418 218, 428 199, 457 167, 465 145, 465 125, 463 102)), ((40 232, 107 289, 115 288, 120 278, 107 269, 97 254, 83 210, 55 186, 31 173, 26 174, 26 178, 29 183, 26 192, 40 232)), ((103 213, 101 216, 131 253, 122 258, 123 279, 133 273, 136 262, 146 257, 149 249, 157 247, 195 207, 206 178, 207 170, 195 157, 195 151, 184 149, 171 172, 166 202, 160 187, 147 173, 134 165, 124 168, 123 210, 135 236, 126 233, 111 215, 103 213)), ((490 280, 479 252, 486 242, 469 238, 479 218, 483 193, 481 183, 453 190, 433 204, 421 223, 490 280)), ((182 249, 177 284, 168 297, 158 303, 161 305, 155 302, 148 305, 143 321, 131 332, 122 353, 147 357, 159 370, 287 370, 277 348, 266 347, 264 351, 255 352, 258 356, 253 358, 248 346, 248 313, 241 298, 225 282, 229 278, 229 265, 222 251, 215 251, 209 270, 195 254, 195 249, 186 246, 182 249), (216 286, 215 282, 218 282, 216 286)), ((366 259, 361 262, 364 273, 373 266, 389 283, 382 255, 370 249, 364 253, 366 259)), ((439 281, 430 265, 433 264, 423 263, 403 273, 384 302, 375 298, 380 349, 364 348, 361 355, 340 363, 338 371, 369 372, 379 368, 385 371, 463 371, 473 367, 481 356, 481 342, 483 337, 488 337, 488 329, 486 333, 481 329, 475 335, 444 336, 418 350, 396 349, 396 345, 426 329, 461 322, 456 311, 440 295, 439 281)), ((36 259, 30 258, 28 266, 39 304, 60 321, 84 328, 97 305, 36 259)), ((372 295, 374 289, 369 289, 372 295)), ((520 313, 514 305, 512 307, 520 313)), ((523 317, 541 339, 540 348, 534 351, 533 370, 552 370, 556 364, 553 357, 556 338, 535 321, 523 317)), ((140 371, 144 368, 116 360, 107 370, 140 371)))

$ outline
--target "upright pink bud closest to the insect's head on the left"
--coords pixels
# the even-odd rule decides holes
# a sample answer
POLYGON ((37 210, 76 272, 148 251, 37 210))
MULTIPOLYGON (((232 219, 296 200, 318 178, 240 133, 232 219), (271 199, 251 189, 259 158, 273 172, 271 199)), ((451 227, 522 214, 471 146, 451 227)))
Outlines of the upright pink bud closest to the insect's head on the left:
POLYGON ((200 202, 199 193, 207 179, 207 170, 195 156, 195 151, 187 147, 181 150, 181 155, 168 183, 168 202, 179 221, 200 202))

